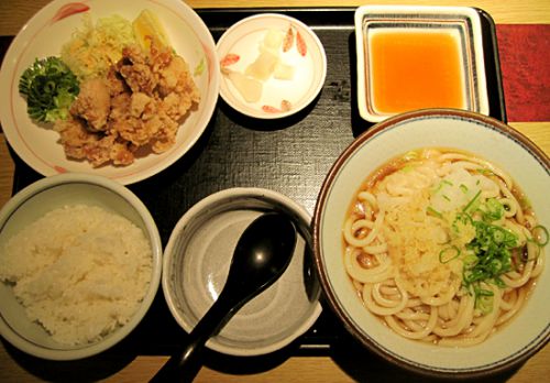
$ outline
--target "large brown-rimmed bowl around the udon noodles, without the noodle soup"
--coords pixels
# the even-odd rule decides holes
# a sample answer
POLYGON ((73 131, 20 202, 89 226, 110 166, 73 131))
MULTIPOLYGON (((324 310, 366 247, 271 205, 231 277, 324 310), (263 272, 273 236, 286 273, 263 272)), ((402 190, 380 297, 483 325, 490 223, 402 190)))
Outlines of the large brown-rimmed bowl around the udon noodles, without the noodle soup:
POLYGON ((507 171, 528 196, 540 225, 550 227, 548 155, 492 118, 457 110, 416 111, 376 124, 332 166, 314 216, 316 265, 328 302, 344 326, 384 359, 431 375, 485 376, 524 362, 550 339, 548 264, 518 316, 484 342, 465 348, 417 342, 392 331, 358 298, 343 265, 342 226, 361 183, 388 160, 433 146, 468 151, 507 171))

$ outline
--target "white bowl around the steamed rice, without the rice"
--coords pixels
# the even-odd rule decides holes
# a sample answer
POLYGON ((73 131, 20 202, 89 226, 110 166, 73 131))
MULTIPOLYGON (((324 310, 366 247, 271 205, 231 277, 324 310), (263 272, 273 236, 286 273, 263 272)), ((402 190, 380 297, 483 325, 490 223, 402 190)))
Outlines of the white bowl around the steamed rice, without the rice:
POLYGON ((151 244, 152 274, 143 300, 124 326, 96 342, 75 347, 55 342, 41 325, 31 321, 12 287, 0 282, 0 335, 18 349, 43 359, 82 359, 117 344, 145 316, 161 281, 162 244, 153 217, 127 187, 101 176, 77 173, 56 175, 42 178, 19 192, 0 210, 0 249, 12 236, 46 212, 73 205, 100 207, 129 219, 142 229, 151 244))

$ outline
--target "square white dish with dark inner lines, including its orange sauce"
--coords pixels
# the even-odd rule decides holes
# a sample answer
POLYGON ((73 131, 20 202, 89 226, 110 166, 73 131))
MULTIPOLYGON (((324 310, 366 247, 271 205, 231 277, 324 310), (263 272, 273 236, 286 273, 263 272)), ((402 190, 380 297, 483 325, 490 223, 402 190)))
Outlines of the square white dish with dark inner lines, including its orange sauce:
POLYGON ((417 109, 488 114, 482 25, 469 7, 355 11, 358 107, 369 122, 417 109))

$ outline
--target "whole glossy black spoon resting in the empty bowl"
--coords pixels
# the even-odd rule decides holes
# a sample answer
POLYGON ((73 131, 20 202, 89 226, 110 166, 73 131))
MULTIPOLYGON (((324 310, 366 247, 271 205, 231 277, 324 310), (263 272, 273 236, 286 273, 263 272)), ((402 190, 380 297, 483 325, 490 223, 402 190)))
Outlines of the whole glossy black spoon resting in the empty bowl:
POLYGON ((267 212, 242 233, 220 296, 199 320, 182 352, 173 355, 153 382, 191 382, 199 372, 205 343, 250 299, 286 270, 296 245, 296 229, 284 215, 267 212))

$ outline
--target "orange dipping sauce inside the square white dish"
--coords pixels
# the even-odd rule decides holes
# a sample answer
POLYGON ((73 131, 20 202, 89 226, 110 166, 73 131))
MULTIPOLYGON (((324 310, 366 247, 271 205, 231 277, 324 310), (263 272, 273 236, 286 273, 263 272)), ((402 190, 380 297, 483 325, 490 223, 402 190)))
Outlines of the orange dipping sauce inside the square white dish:
POLYGON ((459 39, 451 33, 376 31, 369 54, 372 106, 378 113, 465 108, 459 39))

